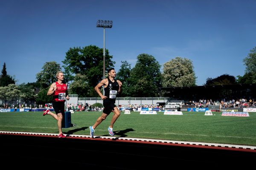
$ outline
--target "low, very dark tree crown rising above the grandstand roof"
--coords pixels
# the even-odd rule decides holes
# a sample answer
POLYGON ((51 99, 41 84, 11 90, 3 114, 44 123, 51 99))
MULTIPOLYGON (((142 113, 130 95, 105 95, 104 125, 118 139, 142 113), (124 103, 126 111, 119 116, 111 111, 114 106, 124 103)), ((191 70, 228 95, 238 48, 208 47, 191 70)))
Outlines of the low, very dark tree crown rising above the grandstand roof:
POLYGON ((204 85, 233 85, 233 84, 236 84, 236 78, 234 76, 230 76, 229 74, 223 74, 214 79, 208 77, 204 85))

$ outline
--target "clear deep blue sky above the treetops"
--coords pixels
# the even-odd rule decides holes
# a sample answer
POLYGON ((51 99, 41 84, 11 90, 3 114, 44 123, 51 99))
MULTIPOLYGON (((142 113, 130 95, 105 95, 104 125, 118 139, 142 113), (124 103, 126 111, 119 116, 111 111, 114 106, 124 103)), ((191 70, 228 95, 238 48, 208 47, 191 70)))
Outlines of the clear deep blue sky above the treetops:
POLYGON ((36 82, 45 62, 63 65, 69 48, 103 48, 97 20, 113 20, 106 48, 115 69, 139 54, 160 65, 192 60, 197 85, 222 74, 244 75, 256 46, 255 0, 0 0, 0 70, 17 84, 36 82))

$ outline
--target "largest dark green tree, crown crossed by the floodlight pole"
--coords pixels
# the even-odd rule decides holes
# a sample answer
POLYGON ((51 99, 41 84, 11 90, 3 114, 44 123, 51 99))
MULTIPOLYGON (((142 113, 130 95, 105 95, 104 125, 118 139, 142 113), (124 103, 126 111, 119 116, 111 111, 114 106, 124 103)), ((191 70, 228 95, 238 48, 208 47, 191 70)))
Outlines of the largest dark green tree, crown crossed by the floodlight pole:
MULTIPOLYGON (((113 57, 105 51, 105 68, 113 67, 115 62, 111 61, 113 57)), ((103 49, 95 45, 86 47, 70 48, 66 53, 64 61, 65 72, 70 75, 82 74, 87 76, 87 82, 94 88, 102 80, 103 68, 103 49)))

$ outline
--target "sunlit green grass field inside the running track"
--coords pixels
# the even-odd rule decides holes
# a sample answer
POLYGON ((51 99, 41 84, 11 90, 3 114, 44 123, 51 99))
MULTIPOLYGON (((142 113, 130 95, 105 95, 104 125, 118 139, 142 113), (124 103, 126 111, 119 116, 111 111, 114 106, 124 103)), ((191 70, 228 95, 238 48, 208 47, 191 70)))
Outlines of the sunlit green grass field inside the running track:
MULTIPOLYGON (((58 133, 56 120, 43 112, 0 113, 0 131, 58 133)), ((76 127, 63 128, 65 134, 90 135, 93 125, 102 112, 75 112, 71 122, 76 127)), ((191 142, 211 142, 256 146, 256 113, 250 117, 221 116, 221 112, 183 112, 183 115, 140 115, 121 113, 114 124, 116 137, 165 139, 191 142)), ((95 130, 95 136, 109 136, 111 113, 95 130)))

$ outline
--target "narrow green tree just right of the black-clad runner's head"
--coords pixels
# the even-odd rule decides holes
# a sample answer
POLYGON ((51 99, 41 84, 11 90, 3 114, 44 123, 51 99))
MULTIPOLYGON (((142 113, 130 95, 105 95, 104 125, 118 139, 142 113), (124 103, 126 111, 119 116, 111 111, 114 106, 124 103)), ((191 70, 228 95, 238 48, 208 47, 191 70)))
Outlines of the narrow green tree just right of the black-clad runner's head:
POLYGON ((122 96, 131 96, 129 93, 130 87, 130 74, 131 74, 131 64, 127 61, 121 61, 122 65, 116 74, 116 79, 119 79, 122 82, 122 96))

